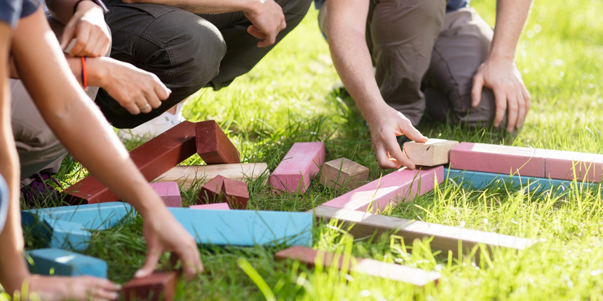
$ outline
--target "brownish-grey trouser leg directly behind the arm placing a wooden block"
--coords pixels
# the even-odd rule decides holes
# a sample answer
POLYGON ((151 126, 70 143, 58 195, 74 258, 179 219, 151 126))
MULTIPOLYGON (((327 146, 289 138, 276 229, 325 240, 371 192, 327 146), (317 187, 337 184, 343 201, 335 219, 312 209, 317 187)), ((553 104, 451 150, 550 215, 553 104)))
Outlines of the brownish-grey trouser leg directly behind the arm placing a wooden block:
POLYGON ((421 80, 444 20, 446 0, 371 0, 367 43, 385 102, 418 125, 421 80))

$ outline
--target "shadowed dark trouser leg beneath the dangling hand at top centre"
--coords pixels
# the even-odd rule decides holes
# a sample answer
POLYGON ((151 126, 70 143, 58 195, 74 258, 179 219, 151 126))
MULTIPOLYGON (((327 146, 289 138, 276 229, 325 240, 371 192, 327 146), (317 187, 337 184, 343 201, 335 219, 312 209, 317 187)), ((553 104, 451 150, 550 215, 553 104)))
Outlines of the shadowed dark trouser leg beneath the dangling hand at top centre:
POLYGON ((278 33, 273 45, 265 48, 258 48, 259 39, 247 32, 247 28, 252 23, 245 18, 243 12, 201 15, 219 29, 226 42, 226 55, 222 59, 219 74, 208 83, 214 90, 226 87, 234 78, 250 71, 262 57, 297 27, 299 22, 302 22, 312 2, 311 0, 275 1, 283 8, 287 28, 278 33))

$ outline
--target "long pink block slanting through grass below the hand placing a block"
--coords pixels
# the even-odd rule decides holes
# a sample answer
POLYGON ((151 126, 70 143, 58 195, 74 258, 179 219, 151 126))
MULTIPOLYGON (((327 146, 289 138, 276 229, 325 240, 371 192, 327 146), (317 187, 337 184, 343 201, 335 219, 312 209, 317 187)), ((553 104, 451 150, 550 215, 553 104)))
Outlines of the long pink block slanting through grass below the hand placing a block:
POLYGON ((423 167, 420 170, 398 169, 365 186, 323 204, 327 207, 371 212, 383 211, 388 204, 412 200, 433 190, 435 181, 444 180, 444 167, 423 167))

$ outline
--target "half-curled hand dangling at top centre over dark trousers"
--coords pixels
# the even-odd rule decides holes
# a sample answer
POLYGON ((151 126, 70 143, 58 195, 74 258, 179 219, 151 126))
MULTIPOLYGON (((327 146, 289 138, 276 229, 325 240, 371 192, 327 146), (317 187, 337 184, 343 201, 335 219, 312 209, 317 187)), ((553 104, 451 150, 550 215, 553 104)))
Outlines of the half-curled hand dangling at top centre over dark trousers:
POLYGON ((276 35, 285 27, 285 15, 274 0, 257 1, 255 11, 245 12, 253 25, 248 27, 247 32, 262 41, 257 42, 257 47, 268 47, 276 42, 276 35))

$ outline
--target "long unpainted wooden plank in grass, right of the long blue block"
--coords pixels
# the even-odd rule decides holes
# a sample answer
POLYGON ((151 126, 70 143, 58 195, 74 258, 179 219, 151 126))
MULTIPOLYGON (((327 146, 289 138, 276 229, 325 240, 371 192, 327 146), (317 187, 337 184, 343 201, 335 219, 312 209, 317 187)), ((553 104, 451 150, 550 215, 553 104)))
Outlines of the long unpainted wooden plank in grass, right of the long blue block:
MULTIPOLYGON (((347 209, 318 206, 313 210, 316 217, 323 218, 325 222, 337 219, 344 222, 343 227, 346 229, 353 225, 349 233, 355 238, 371 237, 375 233, 377 235, 398 235, 404 237, 405 243, 409 244, 414 239, 432 237, 431 248, 441 250, 444 254, 452 251, 455 258, 459 256, 459 241, 461 242, 461 250, 465 255, 469 254, 477 244, 485 244, 489 249, 510 248, 523 250, 536 243, 535 240, 522 237, 456 228, 435 223, 410 221, 403 218, 381 216, 347 209)), ((479 250, 477 251, 476 258, 479 258, 479 250)))

